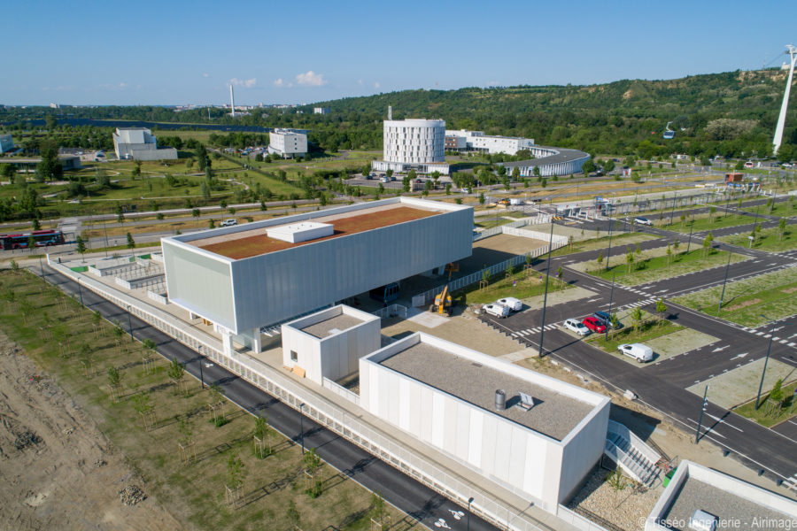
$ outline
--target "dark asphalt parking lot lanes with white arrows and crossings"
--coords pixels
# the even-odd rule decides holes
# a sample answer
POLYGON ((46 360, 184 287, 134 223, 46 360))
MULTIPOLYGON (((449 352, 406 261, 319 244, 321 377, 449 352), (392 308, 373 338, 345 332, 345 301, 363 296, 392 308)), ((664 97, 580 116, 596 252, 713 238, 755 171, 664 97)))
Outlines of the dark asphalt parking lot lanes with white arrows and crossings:
MULTIPOLYGON (((606 228, 606 222, 599 223, 604 224, 603 227, 606 228)), ((590 224, 585 224, 584 227, 590 227, 590 224)), ((688 235, 657 228, 636 227, 636 229, 663 237, 640 243, 642 249, 661 247, 666 244, 665 242, 675 239, 685 243, 688 239, 688 235)), ((700 239, 693 237, 692 245, 700 245, 700 239)), ((738 281, 778 271, 797 262, 797 252, 772 254, 719 243, 715 243, 715 247, 752 257, 747 261, 728 266, 728 281, 738 281)), ((631 246, 621 245, 620 249, 615 247, 612 255, 622 254, 629 248, 631 246)), ((682 250, 685 250, 683 246, 682 250)), ((486 315, 481 316, 481 319, 507 335, 514 336, 517 341, 536 349, 542 339, 545 352, 552 358, 574 366, 580 372, 592 375, 593 378, 620 392, 631 389, 638 395, 640 401, 674 419, 687 433, 694 433, 697 428, 696 419, 700 414, 702 396, 696 396, 685 388, 763 358, 770 347, 771 327, 774 327, 776 332, 772 337, 770 357, 797 367, 797 319, 783 319, 769 326, 749 329, 666 301, 669 310, 666 316, 668 319, 713 335, 719 338, 719 341, 699 350, 692 350, 660 362, 654 361, 646 366, 628 363, 564 332, 559 326, 562 320, 583 318, 598 310, 608 311, 610 300, 612 311, 641 305, 647 311, 655 312, 655 299, 722 284, 726 273, 726 266, 718 266, 633 287, 624 287, 615 283, 612 289, 611 281, 603 281, 568 268, 572 263, 596 259, 599 252, 601 250, 584 251, 552 258, 552 272, 562 266, 564 281, 591 289, 596 295, 587 301, 588 304, 584 304, 584 300, 579 300, 548 307, 545 331, 541 327, 542 310, 519 312, 507 319, 496 319, 486 315)), ((607 249, 602 252, 607 256, 607 249)), ((536 268, 538 271, 546 272, 545 261, 538 260, 536 268)), ((730 450, 747 466, 764 469, 773 478, 786 479, 797 474, 797 423, 785 422, 776 429, 767 429, 710 403, 706 413, 708 421, 704 421, 701 430, 702 439, 711 440, 730 450)))

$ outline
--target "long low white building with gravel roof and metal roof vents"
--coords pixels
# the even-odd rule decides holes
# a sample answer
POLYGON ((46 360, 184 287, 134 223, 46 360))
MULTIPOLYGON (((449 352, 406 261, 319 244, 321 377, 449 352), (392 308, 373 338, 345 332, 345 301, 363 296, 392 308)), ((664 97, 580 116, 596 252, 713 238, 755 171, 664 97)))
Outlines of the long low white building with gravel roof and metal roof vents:
POLYGON ((360 358, 361 407, 553 513, 600 459, 609 404, 421 332, 360 358))

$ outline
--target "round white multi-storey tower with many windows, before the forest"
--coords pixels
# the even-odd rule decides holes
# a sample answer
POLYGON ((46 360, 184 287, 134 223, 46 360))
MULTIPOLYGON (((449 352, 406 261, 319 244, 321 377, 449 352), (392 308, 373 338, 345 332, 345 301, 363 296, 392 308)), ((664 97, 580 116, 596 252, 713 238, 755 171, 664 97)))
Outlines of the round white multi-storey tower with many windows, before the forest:
POLYGON ((383 160, 373 164, 376 171, 448 174, 445 163, 445 120, 388 119, 384 121, 383 160))

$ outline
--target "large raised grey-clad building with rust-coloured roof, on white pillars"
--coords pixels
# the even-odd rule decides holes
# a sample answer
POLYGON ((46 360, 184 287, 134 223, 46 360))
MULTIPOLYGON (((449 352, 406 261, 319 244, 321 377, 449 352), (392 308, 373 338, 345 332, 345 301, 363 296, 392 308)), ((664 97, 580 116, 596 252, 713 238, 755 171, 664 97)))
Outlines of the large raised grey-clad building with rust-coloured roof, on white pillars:
POLYGON ((473 209, 407 197, 162 239, 171 303, 213 323, 225 350, 261 331, 470 256, 473 209))

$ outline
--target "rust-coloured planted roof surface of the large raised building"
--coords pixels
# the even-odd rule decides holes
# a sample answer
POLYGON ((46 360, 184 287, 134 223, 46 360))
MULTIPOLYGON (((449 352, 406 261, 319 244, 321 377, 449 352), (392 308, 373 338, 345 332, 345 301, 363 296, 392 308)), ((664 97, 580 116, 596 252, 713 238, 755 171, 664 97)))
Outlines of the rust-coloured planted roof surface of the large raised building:
POLYGON ((380 227, 388 227, 405 221, 412 221, 413 219, 428 218, 438 213, 440 212, 425 211, 409 206, 399 206, 398 208, 385 209, 380 212, 347 216, 327 221, 327 223, 334 225, 335 234, 309 240, 307 242, 290 243, 276 240, 275 238, 269 238, 266 235, 266 228, 263 228, 259 229, 255 235, 236 238, 226 242, 198 245, 197 247, 227 258, 239 260, 241 258, 256 257, 276 250, 290 249, 291 247, 306 245, 307 243, 321 242, 323 240, 329 240, 330 238, 353 235, 380 227))

